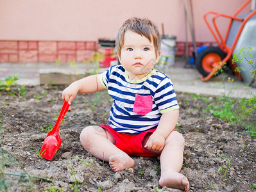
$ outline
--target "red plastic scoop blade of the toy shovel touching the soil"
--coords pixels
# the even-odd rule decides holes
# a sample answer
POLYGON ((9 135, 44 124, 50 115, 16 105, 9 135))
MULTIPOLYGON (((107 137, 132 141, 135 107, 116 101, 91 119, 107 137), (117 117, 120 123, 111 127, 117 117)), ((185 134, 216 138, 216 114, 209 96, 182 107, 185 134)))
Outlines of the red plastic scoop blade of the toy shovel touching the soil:
POLYGON ((56 150, 60 148, 61 143, 62 140, 60 139, 60 135, 56 134, 55 136, 47 136, 40 150, 41 156, 47 160, 53 159, 53 156, 55 156, 56 150))

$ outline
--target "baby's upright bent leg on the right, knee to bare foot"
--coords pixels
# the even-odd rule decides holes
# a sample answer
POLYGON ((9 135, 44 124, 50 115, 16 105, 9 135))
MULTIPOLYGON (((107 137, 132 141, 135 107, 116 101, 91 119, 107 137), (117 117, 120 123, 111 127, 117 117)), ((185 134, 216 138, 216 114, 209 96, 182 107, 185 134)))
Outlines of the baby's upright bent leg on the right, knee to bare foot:
POLYGON ((160 186, 188 191, 189 180, 180 173, 183 163, 184 138, 177 131, 172 131, 166 138, 166 144, 160 156, 160 186))

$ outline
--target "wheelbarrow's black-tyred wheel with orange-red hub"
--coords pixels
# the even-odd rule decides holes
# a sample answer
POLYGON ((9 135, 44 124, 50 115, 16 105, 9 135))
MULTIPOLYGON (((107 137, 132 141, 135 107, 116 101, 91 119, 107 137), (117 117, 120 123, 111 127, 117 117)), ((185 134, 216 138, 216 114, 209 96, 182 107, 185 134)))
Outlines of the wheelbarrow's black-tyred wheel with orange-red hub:
POLYGON ((214 63, 221 62, 226 57, 226 53, 219 47, 207 47, 198 53, 196 58, 196 68, 203 76, 208 76, 214 69, 214 63))

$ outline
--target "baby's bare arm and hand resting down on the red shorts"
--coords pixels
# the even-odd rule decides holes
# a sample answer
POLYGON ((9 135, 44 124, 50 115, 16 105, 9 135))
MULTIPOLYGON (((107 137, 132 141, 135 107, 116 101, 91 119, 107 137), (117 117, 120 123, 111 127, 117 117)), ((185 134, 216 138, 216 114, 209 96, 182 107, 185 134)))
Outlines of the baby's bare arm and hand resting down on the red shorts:
POLYGON ((164 148, 167 136, 169 136, 170 132, 176 127, 178 116, 178 109, 164 113, 160 118, 157 130, 151 134, 144 147, 148 148, 149 150, 161 152, 164 148))

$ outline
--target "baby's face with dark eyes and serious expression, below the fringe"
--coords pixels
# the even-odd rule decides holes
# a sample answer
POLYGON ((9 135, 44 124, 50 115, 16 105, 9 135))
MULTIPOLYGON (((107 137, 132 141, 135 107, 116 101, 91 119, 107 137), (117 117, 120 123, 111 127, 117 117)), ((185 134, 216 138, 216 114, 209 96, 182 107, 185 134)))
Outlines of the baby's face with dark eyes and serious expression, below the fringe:
POLYGON ((147 76, 159 60, 155 55, 153 40, 132 31, 126 31, 124 35, 124 45, 119 56, 120 62, 128 72, 129 79, 141 79, 147 76))

